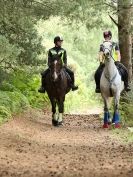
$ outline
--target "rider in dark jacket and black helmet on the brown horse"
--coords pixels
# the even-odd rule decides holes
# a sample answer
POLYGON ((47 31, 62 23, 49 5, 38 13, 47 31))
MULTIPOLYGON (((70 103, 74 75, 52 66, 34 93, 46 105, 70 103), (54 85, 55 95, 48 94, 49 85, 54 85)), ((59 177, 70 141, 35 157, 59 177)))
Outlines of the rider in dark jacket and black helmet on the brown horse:
MULTIPOLYGON (((50 66, 54 55, 62 54, 62 62, 65 68, 65 71, 69 74, 71 78, 71 82, 72 82, 71 88, 72 88, 72 91, 74 91, 78 89, 78 86, 75 86, 75 79, 74 79, 73 71, 71 71, 67 67, 67 53, 66 53, 66 50, 62 48, 62 43, 63 43, 63 39, 60 36, 56 36, 54 38, 55 47, 51 48, 48 52, 48 66, 50 66)), ((41 85, 41 88, 38 90, 40 93, 45 93, 45 78, 46 78, 46 75, 49 73, 49 71, 50 70, 48 68, 42 73, 42 85, 41 85)))

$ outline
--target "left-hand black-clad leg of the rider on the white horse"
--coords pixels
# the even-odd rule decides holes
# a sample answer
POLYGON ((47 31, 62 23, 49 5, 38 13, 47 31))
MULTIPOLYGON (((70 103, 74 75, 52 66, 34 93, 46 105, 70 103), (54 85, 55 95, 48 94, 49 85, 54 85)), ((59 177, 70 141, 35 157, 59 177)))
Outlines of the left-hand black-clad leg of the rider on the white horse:
POLYGON ((100 66, 98 67, 98 69, 96 70, 95 72, 95 83, 96 83, 96 90, 95 92, 96 93, 100 93, 100 79, 101 79, 101 76, 102 76, 102 72, 103 72, 103 69, 104 69, 104 64, 100 64, 100 66))

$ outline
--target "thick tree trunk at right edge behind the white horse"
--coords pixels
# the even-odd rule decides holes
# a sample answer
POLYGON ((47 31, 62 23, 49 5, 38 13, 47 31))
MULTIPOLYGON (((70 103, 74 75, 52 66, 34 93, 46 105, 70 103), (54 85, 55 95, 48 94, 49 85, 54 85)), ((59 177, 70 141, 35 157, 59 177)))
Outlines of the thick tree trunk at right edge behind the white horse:
POLYGON ((118 32, 121 62, 132 79, 132 38, 131 38, 131 0, 118 0, 118 32))

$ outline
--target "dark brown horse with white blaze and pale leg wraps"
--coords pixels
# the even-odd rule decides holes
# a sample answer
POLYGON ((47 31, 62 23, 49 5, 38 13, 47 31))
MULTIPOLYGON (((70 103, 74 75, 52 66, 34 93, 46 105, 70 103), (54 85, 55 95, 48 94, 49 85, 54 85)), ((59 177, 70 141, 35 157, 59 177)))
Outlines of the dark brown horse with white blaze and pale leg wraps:
POLYGON ((70 91, 70 79, 65 71, 62 54, 54 55, 50 64, 50 71, 46 76, 46 92, 52 105, 52 125, 63 124, 65 95, 70 91), (58 113, 56 112, 58 106, 58 113))

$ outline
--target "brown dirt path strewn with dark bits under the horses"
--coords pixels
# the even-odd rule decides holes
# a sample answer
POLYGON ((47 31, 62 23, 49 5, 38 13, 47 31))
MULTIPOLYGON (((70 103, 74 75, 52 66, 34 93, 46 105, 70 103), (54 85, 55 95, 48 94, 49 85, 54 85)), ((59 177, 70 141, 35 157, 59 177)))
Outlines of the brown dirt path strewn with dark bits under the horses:
POLYGON ((133 177, 133 144, 103 130, 97 115, 51 126, 33 110, 0 127, 0 177, 133 177))

